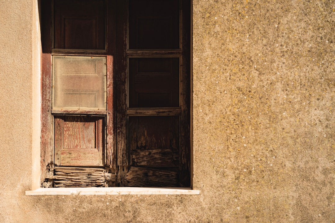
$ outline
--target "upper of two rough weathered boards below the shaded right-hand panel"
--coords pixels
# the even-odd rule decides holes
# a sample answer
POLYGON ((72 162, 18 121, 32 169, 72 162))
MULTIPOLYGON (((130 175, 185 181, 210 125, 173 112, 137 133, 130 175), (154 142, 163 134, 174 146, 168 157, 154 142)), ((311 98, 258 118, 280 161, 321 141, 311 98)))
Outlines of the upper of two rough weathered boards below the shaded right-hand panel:
POLYGON ((177 163, 178 155, 171 149, 138 149, 132 154, 133 166, 177 167, 177 163))

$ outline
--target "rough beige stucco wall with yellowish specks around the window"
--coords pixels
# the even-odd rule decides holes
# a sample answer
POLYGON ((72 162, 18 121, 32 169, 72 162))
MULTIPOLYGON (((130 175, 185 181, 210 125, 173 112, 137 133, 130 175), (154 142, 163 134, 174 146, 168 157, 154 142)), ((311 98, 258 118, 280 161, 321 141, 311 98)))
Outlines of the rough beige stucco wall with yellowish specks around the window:
POLYGON ((193 0, 200 195, 25 196, 39 169, 37 2, 0 1, 0 222, 334 222, 334 11, 193 0))

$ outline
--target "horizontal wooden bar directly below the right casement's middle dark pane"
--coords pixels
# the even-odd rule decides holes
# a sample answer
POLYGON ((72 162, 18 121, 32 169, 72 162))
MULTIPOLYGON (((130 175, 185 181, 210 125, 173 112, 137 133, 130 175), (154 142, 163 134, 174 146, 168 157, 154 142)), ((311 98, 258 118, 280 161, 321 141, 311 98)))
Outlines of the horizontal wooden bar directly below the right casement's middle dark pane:
POLYGON ((181 107, 129 107, 127 116, 180 116, 181 107))

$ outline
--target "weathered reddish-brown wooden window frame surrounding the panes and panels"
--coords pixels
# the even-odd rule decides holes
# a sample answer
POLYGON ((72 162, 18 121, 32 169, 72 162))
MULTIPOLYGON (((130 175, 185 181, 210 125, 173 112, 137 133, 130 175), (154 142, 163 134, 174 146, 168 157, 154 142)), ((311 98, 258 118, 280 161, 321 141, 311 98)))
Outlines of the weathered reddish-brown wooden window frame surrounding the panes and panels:
MULTIPOLYGON (((61 176, 79 174, 79 183, 62 184, 70 187, 123 186, 125 169, 129 165, 127 141, 127 117, 129 116, 180 116, 181 172, 186 177, 179 179, 181 185, 191 186, 191 3, 180 0, 180 48, 171 50, 128 49, 128 1, 105 0, 106 47, 105 50, 54 49, 53 14, 43 16, 42 23, 42 78, 41 78, 41 185, 50 187, 55 172, 61 176), (116 7, 113 7, 116 6, 116 7), (125 13, 117 13, 117 11, 125 13), (117 17, 117 19, 116 19, 117 17), (116 20, 118 23, 116 23, 116 20), (184 29, 183 27, 188 27, 184 29), (110 38, 115 36, 117 38, 110 38), (118 44, 116 44, 118 43, 118 44), (184 44, 189 43, 189 44, 184 44), (107 58, 107 109, 106 110, 55 110, 52 109, 52 56, 106 56, 107 58), (174 108, 128 108, 128 60, 129 58, 178 57, 180 62, 180 106, 174 108), (117 59, 115 59, 117 58, 117 59), (118 68, 118 69, 117 69, 118 68), (105 169, 81 167, 57 167, 54 165, 54 116, 59 115, 104 116, 106 118, 105 169), (95 177, 88 177, 95 176, 95 177), (98 179, 104 178, 104 182, 98 179), (96 181, 97 183, 94 183, 96 181), (114 182, 114 183, 113 183, 114 182), (115 183, 117 182, 117 183, 115 183)), ((43 12, 53 12, 53 1, 42 2, 43 12)), ((68 178, 65 177, 65 180, 68 178)))

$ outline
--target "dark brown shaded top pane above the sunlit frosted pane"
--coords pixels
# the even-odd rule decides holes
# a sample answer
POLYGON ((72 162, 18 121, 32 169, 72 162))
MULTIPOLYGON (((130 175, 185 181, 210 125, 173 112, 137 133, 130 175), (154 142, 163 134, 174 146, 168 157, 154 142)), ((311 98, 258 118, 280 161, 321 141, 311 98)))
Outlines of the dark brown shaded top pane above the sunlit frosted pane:
POLYGON ((54 48, 105 49, 104 0, 54 2, 54 48))

